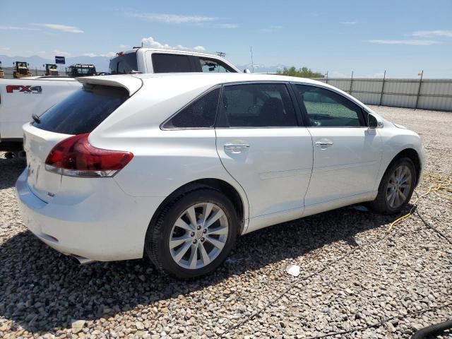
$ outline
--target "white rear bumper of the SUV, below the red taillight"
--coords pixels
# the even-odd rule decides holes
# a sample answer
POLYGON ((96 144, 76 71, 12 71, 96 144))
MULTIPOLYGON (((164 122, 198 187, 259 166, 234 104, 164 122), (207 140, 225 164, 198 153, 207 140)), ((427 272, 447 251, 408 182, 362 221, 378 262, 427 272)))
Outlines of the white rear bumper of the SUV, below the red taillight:
POLYGON ((27 177, 25 169, 16 194, 25 226, 42 242, 95 261, 143 256, 145 232, 163 197, 132 197, 114 180, 101 178, 100 186, 81 199, 56 194, 44 202, 32 193, 27 177))

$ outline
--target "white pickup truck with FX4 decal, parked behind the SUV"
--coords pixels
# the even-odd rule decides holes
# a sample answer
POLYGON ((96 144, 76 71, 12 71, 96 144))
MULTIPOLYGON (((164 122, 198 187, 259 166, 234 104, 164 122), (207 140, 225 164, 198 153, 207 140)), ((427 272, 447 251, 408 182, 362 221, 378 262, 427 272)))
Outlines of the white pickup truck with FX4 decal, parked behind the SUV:
MULTIPOLYGON (((214 54, 137 47, 110 59, 109 73, 239 72, 214 54)), ((20 155, 22 126, 82 88, 76 78, 41 76, 0 79, 0 151, 20 155)), ((86 112, 89 114, 89 112, 86 112)))

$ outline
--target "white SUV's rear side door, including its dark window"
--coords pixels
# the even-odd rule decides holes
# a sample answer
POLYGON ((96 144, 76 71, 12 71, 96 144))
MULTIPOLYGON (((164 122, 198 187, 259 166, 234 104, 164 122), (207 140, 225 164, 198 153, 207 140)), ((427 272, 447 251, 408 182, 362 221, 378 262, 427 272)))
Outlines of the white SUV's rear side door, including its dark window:
POLYGON ((301 215, 312 140, 299 126, 294 100, 286 83, 223 85, 217 150, 246 192, 250 218, 297 209, 301 215))

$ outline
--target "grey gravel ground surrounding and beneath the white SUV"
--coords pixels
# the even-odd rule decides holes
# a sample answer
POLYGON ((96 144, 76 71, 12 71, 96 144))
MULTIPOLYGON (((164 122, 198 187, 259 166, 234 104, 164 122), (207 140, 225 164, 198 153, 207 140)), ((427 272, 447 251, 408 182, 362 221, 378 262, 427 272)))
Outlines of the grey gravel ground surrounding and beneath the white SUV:
MULTIPOLYGON (((373 108, 422 135, 427 171, 451 174, 452 113, 373 108)), ((144 260, 76 266, 42 244, 18 213, 24 166, 0 159, 1 338, 309 338, 381 321, 331 338, 409 338, 451 319, 452 306, 435 307, 451 302, 452 245, 417 215, 387 236, 394 218, 355 208, 269 227, 240 237, 214 275, 186 283, 144 260), (290 263, 298 278, 285 273, 290 263)), ((429 194, 419 209, 452 238, 450 202, 429 194)))

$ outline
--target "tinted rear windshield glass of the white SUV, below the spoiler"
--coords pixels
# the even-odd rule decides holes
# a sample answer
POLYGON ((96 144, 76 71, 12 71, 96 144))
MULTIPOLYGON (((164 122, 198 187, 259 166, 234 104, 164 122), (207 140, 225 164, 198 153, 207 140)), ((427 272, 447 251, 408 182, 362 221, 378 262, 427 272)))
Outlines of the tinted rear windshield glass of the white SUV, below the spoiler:
POLYGON ((124 88, 84 85, 48 109, 33 126, 63 134, 90 133, 128 97, 124 88))

